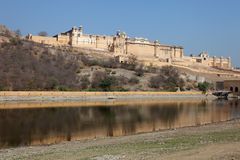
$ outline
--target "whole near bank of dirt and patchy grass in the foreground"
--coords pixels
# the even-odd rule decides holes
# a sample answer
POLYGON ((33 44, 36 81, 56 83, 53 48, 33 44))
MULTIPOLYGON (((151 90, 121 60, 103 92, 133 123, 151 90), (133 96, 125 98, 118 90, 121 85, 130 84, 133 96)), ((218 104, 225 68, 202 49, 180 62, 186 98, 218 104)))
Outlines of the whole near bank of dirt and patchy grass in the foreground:
POLYGON ((0 159, 240 159, 240 119, 125 137, 2 149, 0 159))

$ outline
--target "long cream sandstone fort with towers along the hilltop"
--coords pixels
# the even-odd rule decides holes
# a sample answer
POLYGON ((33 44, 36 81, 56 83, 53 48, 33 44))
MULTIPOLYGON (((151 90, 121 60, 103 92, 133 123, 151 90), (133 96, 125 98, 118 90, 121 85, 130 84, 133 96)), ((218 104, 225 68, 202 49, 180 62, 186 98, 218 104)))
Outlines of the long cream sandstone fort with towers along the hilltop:
POLYGON ((210 57, 207 52, 198 56, 185 56, 184 48, 175 45, 161 44, 159 41, 149 41, 145 38, 129 38, 126 33, 117 31, 114 36, 85 34, 83 27, 72 27, 69 31, 53 37, 28 34, 28 40, 53 45, 72 46, 96 49, 111 54, 121 63, 128 63, 133 55, 145 66, 181 65, 207 66, 221 69, 231 69, 231 58, 210 57))

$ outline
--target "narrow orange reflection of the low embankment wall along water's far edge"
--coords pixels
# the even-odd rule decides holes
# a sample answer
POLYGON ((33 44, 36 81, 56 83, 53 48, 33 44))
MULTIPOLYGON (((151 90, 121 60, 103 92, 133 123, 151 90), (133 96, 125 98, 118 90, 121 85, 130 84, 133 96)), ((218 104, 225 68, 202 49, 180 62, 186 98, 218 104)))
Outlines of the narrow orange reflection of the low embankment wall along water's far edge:
POLYGON ((114 106, 142 106, 149 104, 176 104, 176 103, 189 103, 195 104, 201 101, 213 101, 209 99, 199 98, 149 98, 141 99, 100 99, 100 100, 84 100, 84 101, 0 101, 0 109, 27 109, 27 108, 71 108, 71 107, 114 107, 114 106))

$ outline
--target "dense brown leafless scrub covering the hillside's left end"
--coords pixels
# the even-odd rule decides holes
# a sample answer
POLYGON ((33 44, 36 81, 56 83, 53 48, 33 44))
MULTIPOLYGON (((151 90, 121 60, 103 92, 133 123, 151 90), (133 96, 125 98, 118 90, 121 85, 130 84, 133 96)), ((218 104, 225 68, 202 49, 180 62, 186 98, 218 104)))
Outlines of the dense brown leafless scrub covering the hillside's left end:
POLYGON ((51 54, 30 42, 9 43, 0 49, 0 86, 4 90, 78 90, 78 63, 66 53, 51 54), (36 54, 37 53, 37 54, 36 54))

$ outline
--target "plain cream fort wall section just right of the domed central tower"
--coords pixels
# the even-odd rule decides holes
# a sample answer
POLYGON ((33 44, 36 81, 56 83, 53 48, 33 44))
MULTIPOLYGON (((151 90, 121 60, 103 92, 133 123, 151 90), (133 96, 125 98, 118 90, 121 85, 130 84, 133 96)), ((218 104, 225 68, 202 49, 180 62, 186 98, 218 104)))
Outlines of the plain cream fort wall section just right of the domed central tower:
POLYGON ((154 46, 149 44, 127 43, 127 54, 133 54, 139 59, 155 58, 154 46))

